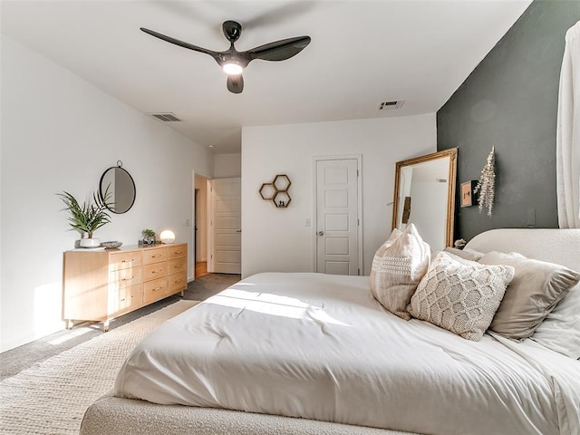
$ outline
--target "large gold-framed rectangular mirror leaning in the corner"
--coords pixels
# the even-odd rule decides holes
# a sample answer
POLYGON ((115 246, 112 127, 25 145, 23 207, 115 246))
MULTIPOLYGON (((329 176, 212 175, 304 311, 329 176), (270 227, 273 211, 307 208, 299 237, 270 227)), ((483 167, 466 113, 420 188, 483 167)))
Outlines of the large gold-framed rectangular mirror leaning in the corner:
POLYGON ((457 148, 398 161, 392 228, 415 224, 431 250, 453 246, 457 148))

